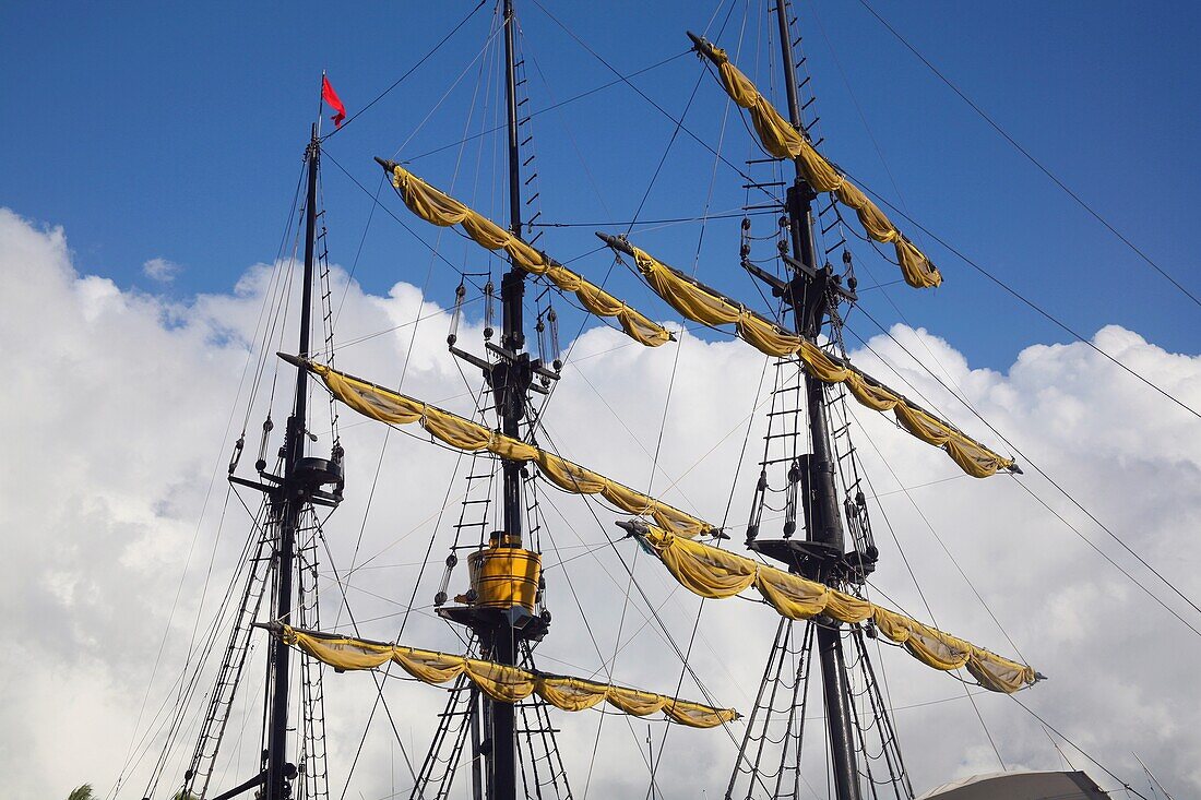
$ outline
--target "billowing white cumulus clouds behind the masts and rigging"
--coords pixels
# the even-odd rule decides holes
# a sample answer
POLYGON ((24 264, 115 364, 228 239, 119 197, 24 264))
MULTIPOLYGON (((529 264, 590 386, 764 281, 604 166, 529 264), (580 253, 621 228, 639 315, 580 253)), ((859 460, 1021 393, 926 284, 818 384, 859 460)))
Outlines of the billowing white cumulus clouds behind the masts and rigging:
MULTIPOLYGON (((276 375, 274 359, 255 381, 258 354, 252 350, 264 330, 274 330, 271 352, 292 348, 280 333, 283 327, 273 329, 277 321, 270 303, 264 305, 277 289, 279 274, 271 265, 256 265, 228 293, 186 304, 121 291, 104 277, 76 271, 61 229, 0 210, 0 277, 19 287, 0 302, 7 366, 0 417, 10 453, 0 479, 0 605, 7 634, 0 650, 0 771, 13 796, 61 796, 85 781, 107 793, 123 765, 129 769, 121 796, 143 796, 162 732, 156 727, 160 709, 169 711, 173 681, 185 668, 190 644, 203 639, 251 530, 239 496, 223 480, 232 443, 249 419, 246 459, 252 460, 270 387, 285 398, 291 386, 291 371, 280 368, 276 375), (256 384, 262 392, 247 414, 256 384), (195 638, 193 628, 199 632, 195 638), (147 730, 151 735, 142 741, 147 730)), ((393 383, 404 372, 406 392, 470 413, 478 380, 465 382, 447 356, 447 320, 435 298, 404 282, 387 295, 371 295, 347 283, 343 273, 334 274, 335 295, 346 297, 337 334, 347 346, 339 350, 339 366, 393 383), (418 316, 424 321, 414 327, 418 316)), ((997 442, 943 384, 961 394, 1004 434, 1009 444, 998 447, 1020 450, 1021 460, 1058 480, 1182 591, 1201 596, 1195 536, 1201 426, 1194 418, 1083 345, 1035 345, 999 372, 973 369, 930 332, 898 327, 891 334, 871 340, 871 350, 853 358, 997 442)), ((460 341, 479 341, 478 321, 468 321, 460 341)), ((1094 342, 1201 406, 1196 356, 1164 352, 1112 326, 1099 330, 1094 342)), ((550 443, 566 456, 631 485, 650 486, 707 519, 728 521, 736 547, 771 377, 772 368, 737 341, 683 335, 677 346, 652 351, 592 328, 572 344, 562 386, 543 419, 550 443), (743 454, 748 419, 751 444, 743 454)), ((313 394, 313 406, 319 414, 312 447, 321 452, 330 444, 321 393, 313 394)), ((274 413, 277 434, 287 413, 282 400, 274 413)), ((1018 479, 958 477, 944 454, 900 432, 885 417, 859 407, 852 413, 872 477, 870 494, 877 498, 872 512, 882 561, 876 591, 922 619, 930 616, 928 601, 940 627, 999 652, 1010 652, 1012 639, 1051 679, 1023 693, 1022 703, 1119 775, 1141 774, 1130 756, 1136 751, 1178 795, 1201 790, 1193 757, 1201 750, 1194 676, 1201 637, 1094 547, 1191 625, 1201 627, 1201 616, 1038 470, 1027 468, 1018 479)), ((461 646, 430 609, 470 459, 417 441, 419 431, 417 438, 387 432, 346 410, 340 430, 348 454, 347 500, 324 526, 329 554, 322 554, 318 579, 323 625, 347 628, 348 611, 340 601, 348 584, 347 602, 364 635, 392 639, 416 585, 404 640, 443 650, 461 646), (418 563, 428 549, 434 567, 423 572, 418 563), (355 569, 347 578, 352 563, 355 569)), ((274 438, 268 452, 277 447, 274 438)), ((252 492, 243 498, 253 508, 252 492)), ((611 513, 558 492, 544 491, 540 505, 548 601, 555 614, 552 633, 538 647, 542 667, 603 675, 602 662, 615 661, 615 680, 669 692, 682 680, 681 694, 699 697, 693 675, 681 676, 671 647, 673 641, 688 646, 698 598, 679 590, 632 543, 610 545, 611 513), (627 566, 645 598, 631 589, 627 566)), ((452 593, 461 591, 465 579, 456 571, 452 593)), ((776 620, 734 599, 707 602, 700 615, 689 659, 695 676, 716 699, 746 711, 776 620)), ((261 652, 258 643, 247 673, 252 689, 261 683, 261 652)), ((998 769, 962 685, 902 652, 886 650, 877 661, 919 793, 956 776, 998 769)), ((327 687, 331 786, 340 792, 376 692, 370 677, 353 674, 329 675, 327 687)), ((398 790, 408 786, 393 724, 408 758, 419 763, 446 702, 438 689, 400 680, 389 680, 384 695, 393 720, 382 711, 371 718, 349 787, 369 800, 390 794, 394 784, 398 790)), ((1063 769, 1042 727, 1017 703, 992 694, 975 700, 1008 766, 1063 769)), ((257 763, 255 709, 253 702, 244 704, 227 735, 228 750, 243 753, 240 762, 219 765, 229 783, 245 778, 257 763)), ((817 704, 812 714, 808 741, 811 756, 819 758, 824 746, 817 704)), ((576 796, 586 778, 594 796, 646 793, 646 722, 593 712, 560 715, 555 724, 576 796), (592 765, 598 724, 603 735, 592 765)), ((662 723, 651 728, 657 748, 662 723)), ((190 734, 192 717, 185 740, 190 734)), ((1060 747, 1077 768, 1115 787, 1085 756, 1060 747)), ((664 796, 718 796, 724 790, 735 754, 725 733, 673 729, 665 752, 658 772, 664 796)), ((181 770, 177 757, 155 796, 168 796, 181 770)), ((824 787, 815 763, 814 770, 808 781, 824 787)))

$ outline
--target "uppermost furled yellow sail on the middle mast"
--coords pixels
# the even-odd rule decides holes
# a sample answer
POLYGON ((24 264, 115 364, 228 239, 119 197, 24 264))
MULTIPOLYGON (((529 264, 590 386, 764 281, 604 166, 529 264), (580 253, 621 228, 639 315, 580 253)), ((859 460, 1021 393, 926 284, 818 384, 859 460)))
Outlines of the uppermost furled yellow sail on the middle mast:
POLYGON ((545 275, 564 292, 574 292, 585 309, 598 317, 615 317, 621 324, 621 329, 631 339, 647 347, 658 347, 671 339, 671 334, 662 326, 656 324, 599 286, 548 258, 488 217, 434 189, 400 165, 388 166, 390 166, 392 185, 405 201, 405 205, 426 222, 441 227, 462 226, 467 235, 482 247, 503 250, 514 264, 527 273, 545 275))

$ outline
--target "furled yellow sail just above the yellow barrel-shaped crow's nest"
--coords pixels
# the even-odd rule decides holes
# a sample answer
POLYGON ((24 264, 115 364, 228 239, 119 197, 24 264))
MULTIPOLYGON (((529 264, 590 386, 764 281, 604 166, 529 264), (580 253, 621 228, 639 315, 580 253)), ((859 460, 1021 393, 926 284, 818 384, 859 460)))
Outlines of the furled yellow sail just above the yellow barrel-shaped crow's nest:
POLYGON ((600 495, 621 511, 628 514, 650 517, 662 527, 680 536, 703 536, 713 531, 713 525, 697 519, 692 514, 649 497, 603 474, 585 470, 578 464, 561 459, 533 444, 504 436, 485 425, 399 392, 368 383, 346 372, 339 372, 324 364, 299 359, 297 363, 303 363, 310 372, 324 381, 335 398, 360 414, 396 425, 419 422, 431 436, 461 450, 486 449, 504 459, 533 461, 542 473, 560 489, 578 495, 600 495))

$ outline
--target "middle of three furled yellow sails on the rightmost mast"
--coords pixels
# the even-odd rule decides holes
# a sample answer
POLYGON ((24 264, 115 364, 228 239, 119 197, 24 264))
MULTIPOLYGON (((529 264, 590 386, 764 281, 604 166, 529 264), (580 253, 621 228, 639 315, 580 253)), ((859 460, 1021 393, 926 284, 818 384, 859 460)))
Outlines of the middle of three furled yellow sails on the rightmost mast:
POLYGON ((998 470, 1010 470, 1014 460, 999 455, 933 414, 913 406, 876 378, 826 354, 820 347, 785 330, 668 267, 650 253, 627 241, 639 271, 651 288, 671 308, 695 322, 707 326, 733 324, 740 339, 767 356, 796 356, 806 370, 825 383, 844 383, 859 402, 873 411, 891 411, 901 425, 924 442, 940 447, 968 474, 986 478, 998 470))

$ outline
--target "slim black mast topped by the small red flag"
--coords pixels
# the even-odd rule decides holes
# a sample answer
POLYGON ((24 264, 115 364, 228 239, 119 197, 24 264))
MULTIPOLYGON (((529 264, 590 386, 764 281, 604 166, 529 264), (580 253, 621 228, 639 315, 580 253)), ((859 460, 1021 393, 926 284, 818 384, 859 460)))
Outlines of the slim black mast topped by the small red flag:
MULTIPOLYGON (((312 126, 309 142, 309 192, 305 202, 304 289, 300 302, 299 357, 309 358, 310 318, 312 308, 312 276, 317 238, 317 168, 321 161, 321 142, 317 125, 312 126)), ((298 470, 304 459, 307 436, 309 370, 297 366, 295 400, 288 417, 283 438, 283 482, 274 492, 274 513, 279 531, 276 549, 275 622, 292 623, 292 573, 295 554, 297 530, 300 514, 311 498, 312 482, 304 470, 298 470)), ((288 732, 288 655, 291 647, 281 638, 271 645, 271 695, 267 734, 267 800, 286 800, 292 794, 291 780, 295 766, 287 763, 288 732)))

